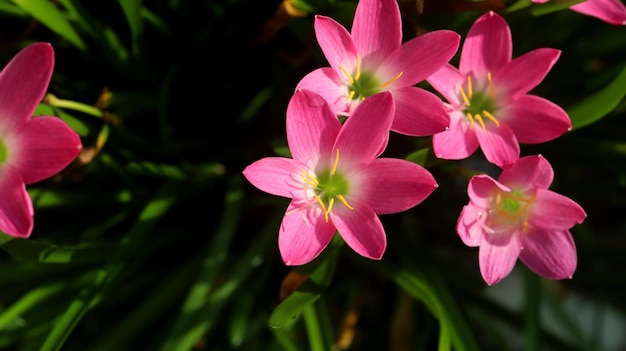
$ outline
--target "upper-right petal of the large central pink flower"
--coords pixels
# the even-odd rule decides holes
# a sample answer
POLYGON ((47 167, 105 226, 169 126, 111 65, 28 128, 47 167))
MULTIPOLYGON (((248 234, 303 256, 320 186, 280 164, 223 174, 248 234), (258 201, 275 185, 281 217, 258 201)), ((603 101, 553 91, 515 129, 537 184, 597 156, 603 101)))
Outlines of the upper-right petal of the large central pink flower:
POLYGON ((363 100, 346 120, 335 142, 342 165, 360 169, 380 154, 389 139, 394 102, 390 92, 374 94, 363 100))

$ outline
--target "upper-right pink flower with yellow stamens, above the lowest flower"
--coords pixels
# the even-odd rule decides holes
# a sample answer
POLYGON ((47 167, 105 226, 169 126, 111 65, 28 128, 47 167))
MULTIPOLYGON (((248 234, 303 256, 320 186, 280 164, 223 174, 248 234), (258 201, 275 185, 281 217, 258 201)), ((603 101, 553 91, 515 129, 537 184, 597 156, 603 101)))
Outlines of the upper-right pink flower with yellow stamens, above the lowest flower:
POLYGON ((519 143, 542 143, 571 129, 556 104, 528 94, 546 76, 559 50, 537 49, 511 59, 511 31, 494 12, 476 20, 463 43, 459 68, 447 64, 427 81, 449 103, 450 129, 433 136, 443 159, 463 159, 478 147, 499 167, 515 162, 519 143))

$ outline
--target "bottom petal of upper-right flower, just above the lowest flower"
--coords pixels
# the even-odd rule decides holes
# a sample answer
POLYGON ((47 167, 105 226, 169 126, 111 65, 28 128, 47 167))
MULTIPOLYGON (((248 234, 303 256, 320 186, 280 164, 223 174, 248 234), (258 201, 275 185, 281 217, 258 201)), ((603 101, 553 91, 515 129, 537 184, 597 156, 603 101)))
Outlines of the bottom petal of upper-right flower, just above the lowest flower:
POLYGON ((489 162, 500 168, 506 168, 517 161, 520 148, 515 134, 508 125, 500 124, 499 127, 490 125, 486 129, 475 126, 474 130, 480 148, 489 162))

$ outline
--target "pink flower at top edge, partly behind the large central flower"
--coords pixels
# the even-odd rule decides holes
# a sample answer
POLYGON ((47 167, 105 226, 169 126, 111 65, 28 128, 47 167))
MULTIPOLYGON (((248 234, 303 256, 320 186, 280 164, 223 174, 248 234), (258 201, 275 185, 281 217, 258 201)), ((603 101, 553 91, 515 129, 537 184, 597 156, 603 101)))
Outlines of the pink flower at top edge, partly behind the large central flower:
POLYGON ((326 99, 333 113, 349 116, 367 97, 391 91, 395 117, 391 130, 429 136, 449 124, 435 94, 414 85, 446 64, 460 37, 449 30, 420 35, 402 44, 402 22, 396 0, 361 0, 352 33, 324 16, 315 17, 317 41, 330 67, 307 74, 297 89, 326 99))

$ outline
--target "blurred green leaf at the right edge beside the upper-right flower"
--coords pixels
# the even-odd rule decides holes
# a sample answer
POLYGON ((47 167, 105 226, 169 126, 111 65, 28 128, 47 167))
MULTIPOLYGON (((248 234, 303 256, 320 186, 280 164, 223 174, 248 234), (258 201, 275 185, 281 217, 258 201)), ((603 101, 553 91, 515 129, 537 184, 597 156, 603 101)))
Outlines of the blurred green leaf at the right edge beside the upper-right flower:
POLYGON ((626 66, 604 89, 567 109, 572 129, 591 124, 609 114, 626 95, 626 66))

